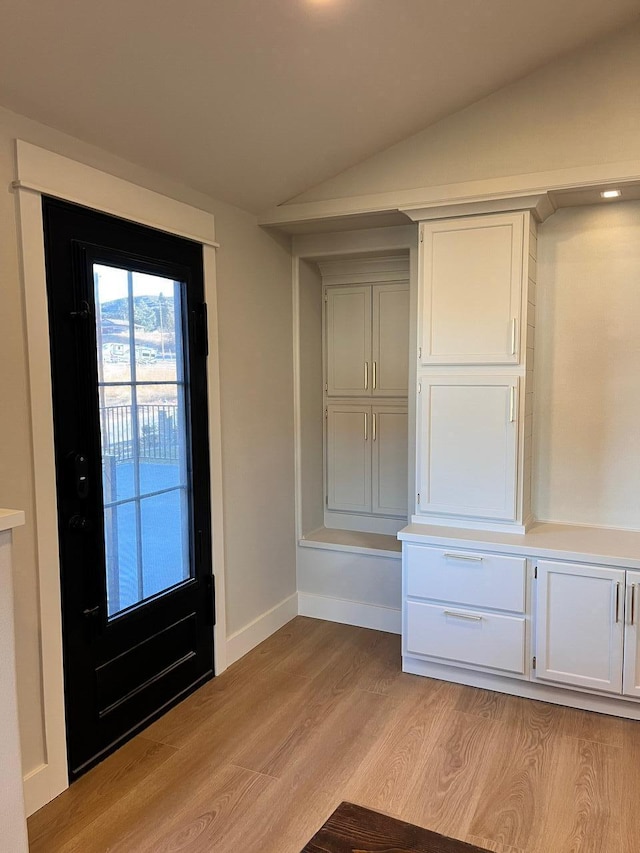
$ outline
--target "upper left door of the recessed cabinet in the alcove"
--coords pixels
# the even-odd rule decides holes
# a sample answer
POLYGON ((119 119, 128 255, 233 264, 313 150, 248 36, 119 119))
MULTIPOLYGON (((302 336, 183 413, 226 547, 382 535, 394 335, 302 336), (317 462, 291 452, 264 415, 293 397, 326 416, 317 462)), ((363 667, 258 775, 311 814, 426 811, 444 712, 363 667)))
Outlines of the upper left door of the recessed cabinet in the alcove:
POLYGON ((371 285, 327 288, 327 393, 371 393, 371 285))

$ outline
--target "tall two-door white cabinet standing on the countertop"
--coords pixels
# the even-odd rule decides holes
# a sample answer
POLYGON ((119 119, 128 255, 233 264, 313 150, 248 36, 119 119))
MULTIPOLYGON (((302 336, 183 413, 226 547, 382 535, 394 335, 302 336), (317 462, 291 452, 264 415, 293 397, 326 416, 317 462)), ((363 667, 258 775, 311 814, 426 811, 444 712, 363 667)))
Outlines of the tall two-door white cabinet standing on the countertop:
POLYGON ((420 224, 415 522, 531 520, 535 255, 529 211, 420 224))

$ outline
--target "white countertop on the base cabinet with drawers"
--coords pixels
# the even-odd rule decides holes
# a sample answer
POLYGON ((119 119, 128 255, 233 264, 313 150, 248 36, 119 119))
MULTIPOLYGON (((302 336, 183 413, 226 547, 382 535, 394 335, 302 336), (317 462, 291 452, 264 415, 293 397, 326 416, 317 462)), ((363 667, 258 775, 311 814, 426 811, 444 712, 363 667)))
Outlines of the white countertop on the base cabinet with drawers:
POLYGON ((640 531, 538 522, 526 533, 409 524, 398 533, 403 542, 480 548, 496 553, 604 563, 640 569, 640 531))

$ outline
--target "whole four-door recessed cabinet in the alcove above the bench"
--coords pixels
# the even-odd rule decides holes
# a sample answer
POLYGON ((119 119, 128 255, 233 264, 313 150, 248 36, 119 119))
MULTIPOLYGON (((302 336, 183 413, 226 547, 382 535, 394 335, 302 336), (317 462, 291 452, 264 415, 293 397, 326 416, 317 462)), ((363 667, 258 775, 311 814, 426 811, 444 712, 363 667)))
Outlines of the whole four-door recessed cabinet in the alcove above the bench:
POLYGON ((325 261, 319 267, 325 526, 393 533, 397 519, 407 515, 408 259, 325 261))

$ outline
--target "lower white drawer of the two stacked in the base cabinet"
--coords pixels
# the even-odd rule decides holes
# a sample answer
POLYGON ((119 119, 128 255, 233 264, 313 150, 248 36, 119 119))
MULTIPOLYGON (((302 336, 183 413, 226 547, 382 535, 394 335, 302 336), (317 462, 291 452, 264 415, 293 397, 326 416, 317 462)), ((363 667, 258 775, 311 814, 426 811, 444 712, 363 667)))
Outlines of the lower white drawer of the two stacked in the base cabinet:
POLYGON ((524 673, 523 617, 477 613, 419 601, 407 602, 406 608, 408 654, 524 673))

